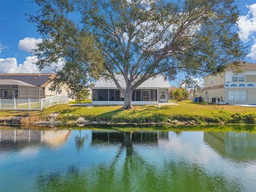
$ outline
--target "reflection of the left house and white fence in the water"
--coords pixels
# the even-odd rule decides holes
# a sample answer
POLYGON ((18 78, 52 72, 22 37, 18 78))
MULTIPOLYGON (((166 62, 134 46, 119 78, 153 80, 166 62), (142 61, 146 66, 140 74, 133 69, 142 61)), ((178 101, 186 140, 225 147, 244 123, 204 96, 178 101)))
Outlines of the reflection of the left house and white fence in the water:
POLYGON ((0 129, 0 149, 1 151, 19 150, 39 143, 56 148, 67 141, 70 132, 70 130, 0 129))

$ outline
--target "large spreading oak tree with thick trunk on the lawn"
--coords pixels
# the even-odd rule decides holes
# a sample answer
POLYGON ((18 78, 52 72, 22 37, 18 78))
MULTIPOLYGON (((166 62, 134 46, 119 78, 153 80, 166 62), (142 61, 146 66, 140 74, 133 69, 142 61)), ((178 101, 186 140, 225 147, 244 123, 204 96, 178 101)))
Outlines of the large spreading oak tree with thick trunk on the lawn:
POLYGON ((86 78, 112 79, 124 95, 125 109, 132 107, 132 92, 151 77, 217 74, 227 66, 238 67, 245 56, 235 30, 239 11, 232 0, 37 3, 42 9, 30 20, 45 36, 35 50, 37 65, 43 68, 61 58, 67 69, 85 69, 77 73, 86 78), (81 23, 75 25, 71 12, 81 16, 81 23), (123 75, 125 90, 115 71, 123 75))

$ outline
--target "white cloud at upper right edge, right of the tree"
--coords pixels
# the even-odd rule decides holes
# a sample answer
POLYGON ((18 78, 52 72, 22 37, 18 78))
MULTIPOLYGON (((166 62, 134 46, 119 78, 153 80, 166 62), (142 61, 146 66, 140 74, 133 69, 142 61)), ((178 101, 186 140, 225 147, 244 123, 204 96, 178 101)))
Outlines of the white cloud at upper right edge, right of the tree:
POLYGON ((241 15, 237 22, 239 37, 244 42, 249 41, 251 36, 255 36, 254 33, 256 32, 256 3, 246 5, 246 7, 249 9, 249 12, 245 16, 241 15))

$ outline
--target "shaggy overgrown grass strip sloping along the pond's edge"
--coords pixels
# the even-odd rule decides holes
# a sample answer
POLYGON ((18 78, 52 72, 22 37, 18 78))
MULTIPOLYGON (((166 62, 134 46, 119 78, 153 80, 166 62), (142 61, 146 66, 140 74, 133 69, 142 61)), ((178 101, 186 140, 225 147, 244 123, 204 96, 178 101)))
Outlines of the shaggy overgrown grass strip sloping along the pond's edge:
POLYGON ((58 115, 58 121, 70 122, 77 121, 79 117, 83 117, 90 122, 111 122, 111 123, 171 123, 171 121, 191 122, 196 124, 204 123, 225 123, 225 124, 256 124, 256 113, 221 113, 214 116, 202 115, 186 115, 186 114, 151 114, 142 116, 132 115, 58 115))

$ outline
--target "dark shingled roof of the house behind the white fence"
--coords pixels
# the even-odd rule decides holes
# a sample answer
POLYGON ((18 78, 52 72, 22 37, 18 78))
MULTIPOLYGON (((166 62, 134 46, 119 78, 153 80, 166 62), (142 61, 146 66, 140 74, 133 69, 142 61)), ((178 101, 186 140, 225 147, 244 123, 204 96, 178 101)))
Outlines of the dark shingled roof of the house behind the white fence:
POLYGON ((0 74, 0 79, 13 79, 35 86, 46 86, 54 74, 0 74))

